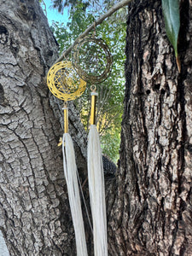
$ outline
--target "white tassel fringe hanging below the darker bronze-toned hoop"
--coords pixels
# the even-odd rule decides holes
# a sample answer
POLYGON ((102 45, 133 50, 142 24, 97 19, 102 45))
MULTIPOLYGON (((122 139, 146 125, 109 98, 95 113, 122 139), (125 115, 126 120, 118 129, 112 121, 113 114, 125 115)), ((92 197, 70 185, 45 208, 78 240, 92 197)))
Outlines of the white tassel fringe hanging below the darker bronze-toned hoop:
POLYGON ((93 219, 94 253, 95 256, 107 256, 108 238, 102 150, 96 125, 90 125, 87 151, 90 207, 93 219))

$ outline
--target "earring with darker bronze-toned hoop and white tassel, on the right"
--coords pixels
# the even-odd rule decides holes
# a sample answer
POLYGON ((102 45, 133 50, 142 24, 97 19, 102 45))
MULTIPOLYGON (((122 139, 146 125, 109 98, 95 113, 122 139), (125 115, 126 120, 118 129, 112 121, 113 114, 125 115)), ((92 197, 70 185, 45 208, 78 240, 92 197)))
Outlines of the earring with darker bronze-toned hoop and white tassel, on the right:
POLYGON ((108 236, 102 150, 96 129, 96 85, 108 78, 112 55, 108 45, 95 37, 80 38, 73 45, 73 67, 81 79, 91 84, 90 131, 88 135, 87 165, 90 207, 93 221, 94 253, 108 255, 108 236))

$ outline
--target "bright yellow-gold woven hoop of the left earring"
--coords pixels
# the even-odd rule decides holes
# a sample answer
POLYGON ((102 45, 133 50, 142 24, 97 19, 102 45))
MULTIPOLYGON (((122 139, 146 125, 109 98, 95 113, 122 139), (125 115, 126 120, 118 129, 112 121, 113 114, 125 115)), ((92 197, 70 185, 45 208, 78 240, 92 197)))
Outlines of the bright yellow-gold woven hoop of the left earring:
POLYGON ((50 67, 47 84, 54 96, 66 102, 81 96, 86 88, 86 82, 79 79, 71 61, 57 62, 50 67))

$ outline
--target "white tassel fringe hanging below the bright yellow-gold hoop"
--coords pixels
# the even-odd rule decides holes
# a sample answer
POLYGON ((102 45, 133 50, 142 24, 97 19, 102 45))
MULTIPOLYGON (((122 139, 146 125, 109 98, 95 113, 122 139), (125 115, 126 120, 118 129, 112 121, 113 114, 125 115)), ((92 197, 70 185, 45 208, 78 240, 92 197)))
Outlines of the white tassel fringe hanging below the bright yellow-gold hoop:
POLYGON ((77 255, 86 256, 88 254, 84 235, 84 221, 79 196, 79 184, 77 178, 78 170, 75 163, 73 141, 68 133, 63 134, 62 153, 64 173, 67 181, 68 198, 75 231, 77 255))

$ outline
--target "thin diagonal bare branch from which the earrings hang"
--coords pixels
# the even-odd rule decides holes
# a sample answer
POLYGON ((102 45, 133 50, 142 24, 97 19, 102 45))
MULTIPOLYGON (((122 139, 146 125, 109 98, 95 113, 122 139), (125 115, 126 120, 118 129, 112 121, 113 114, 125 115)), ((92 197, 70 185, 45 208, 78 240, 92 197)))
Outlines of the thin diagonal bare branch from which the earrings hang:
MULTIPOLYGON (((75 44, 79 38, 84 38, 92 29, 94 29, 94 27, 96 27, 97 25, 101 24, 103 20, 105 20, 106 18, 108 18, 110 15, 113 15, 114 12, 116 12, 118 9, 124 7, 125 5, 128 5, 129 3, 131 3, 132 0, 122 0, 121 2, 115 4, 111 9, 108 10, 108 12, 106 12, 104 15, 102 15, 99 19, 97 19, 93 24, 91 24, 83 33, 81 33, 79 35, 79 37, 74 41, 73 44, 75 44)), ((69 46, 69 48, 62 52, 61 56, 55 61, 55 63, 62 61, 64 58, 67 57, 67 55, 70 54, 70 52, 73 49, 73 44, 71 46, 69 46)))

